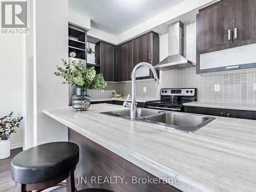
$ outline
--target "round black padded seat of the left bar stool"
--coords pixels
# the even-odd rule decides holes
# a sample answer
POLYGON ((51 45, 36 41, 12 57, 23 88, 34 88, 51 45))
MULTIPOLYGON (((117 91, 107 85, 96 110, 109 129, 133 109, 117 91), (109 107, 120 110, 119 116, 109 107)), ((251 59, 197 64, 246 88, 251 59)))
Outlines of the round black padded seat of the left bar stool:
POLYGON ((79 146, 71 142, 52 142, 34 146, 16 155, 11 162, 13 181, 33 184, 52 180, 75 169, 79 146))

